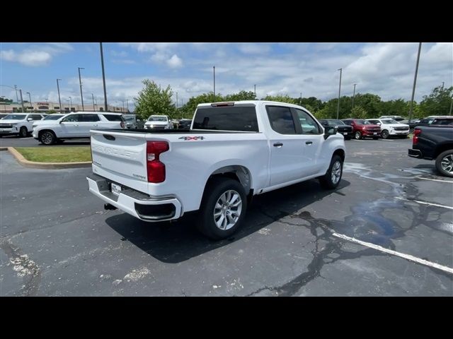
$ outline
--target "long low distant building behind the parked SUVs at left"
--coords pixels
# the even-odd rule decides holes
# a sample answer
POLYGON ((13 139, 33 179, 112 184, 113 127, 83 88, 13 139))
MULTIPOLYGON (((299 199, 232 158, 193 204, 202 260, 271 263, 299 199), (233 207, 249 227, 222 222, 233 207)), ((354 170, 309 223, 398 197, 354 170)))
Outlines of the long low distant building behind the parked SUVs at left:
MULTIPOLYGON (((23 102, 23 107, 25 108, 26 112, 39 112, 39 113, 47 113, 50 110, 60 112, 60 107, 58 102, 33 102, 30 105, 30 102, 23 102)), ((86 111, 96 111, 96 112, 103 112, 104 105, 87 105, 84 103, 84 108, 86 111)), ((108 105, 108 112, 117 112, 117 113, 129 113, 130 111, 125 107, 115 107, 112 105, 108 105)), ((62 112, 69 113, 69 112, 78 112, 82 110, 82 105, 77 104, 64 104, 62 105, 62 112)), ((22 105, 20 102, 3 102, 0 101, 0 113, 16 113, 22 112, 22 105)))

